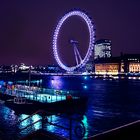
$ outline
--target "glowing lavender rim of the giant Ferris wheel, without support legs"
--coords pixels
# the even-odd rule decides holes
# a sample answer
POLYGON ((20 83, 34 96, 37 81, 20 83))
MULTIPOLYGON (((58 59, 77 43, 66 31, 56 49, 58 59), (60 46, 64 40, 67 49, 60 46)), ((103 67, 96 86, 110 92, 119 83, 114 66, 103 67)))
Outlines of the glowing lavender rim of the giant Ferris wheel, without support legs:
MULTIPOLYGON (((94 36, 95 35, 94 35, 94 29, 93 29, 92 21, 84 12, 82 12, 82 11, 71 11, 71 12, 65 14, 60 19, 60 21, 58 22, 57 27, 56 27, 55 32, 54 32, 54 36, 53 36, 53 53, 54 53, 54 57, 55 57, 58 65, 62 69, 66 70, 66 71, 69 71, 69 72, 72 72, 72 71, 74 71, 78 68, 83 67, 87 63, 87 61, 89 60, 89 58, 92 54, 92 50, 93 50, 93 46, 94 46, 94 39, 95 39, 94 36), (66 66, 65 64, 62 63, 62 61, 59 57, 57 42, 58 42, 59 32, 60 32, 60 29, 61 29, 63 23, 71 16, 79 16, 86 22, 86 25, 88 27, 88 32, 89 32, 89 43, 88 43, 88 49, 87 49, 87 52, 86 52, 86 55, 84 56, 84 58, 80 57, 80 62, 79 63, 77 63, 74 66, 68 67, 68 66, 66 66)), ((76 52, 79 53, 78 50, 76 50, 76 52)))

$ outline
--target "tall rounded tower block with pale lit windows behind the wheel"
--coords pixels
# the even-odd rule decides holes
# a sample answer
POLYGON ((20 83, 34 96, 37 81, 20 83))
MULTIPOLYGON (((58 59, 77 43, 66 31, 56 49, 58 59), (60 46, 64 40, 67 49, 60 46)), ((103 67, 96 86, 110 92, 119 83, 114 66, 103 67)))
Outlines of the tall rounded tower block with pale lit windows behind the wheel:
POLYGON ((108 39, 97 40, 94 49, 94 59, 111 57, 111 41, 108 39))

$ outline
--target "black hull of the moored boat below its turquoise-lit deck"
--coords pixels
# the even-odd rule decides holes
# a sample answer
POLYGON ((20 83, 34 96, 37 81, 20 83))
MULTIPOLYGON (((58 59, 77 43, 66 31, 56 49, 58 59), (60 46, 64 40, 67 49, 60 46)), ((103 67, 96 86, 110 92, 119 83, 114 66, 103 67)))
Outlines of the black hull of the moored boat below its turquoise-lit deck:
POLYGON ((80 99, 64 100, 53 103, 42 103, 28 100, 26 104, 15 104, 12 100, 5 101, 5 105, 16 114, 32 114, 37 110, 45 110, 54 113, 80 113, 86 110, 86 102, 80 99))

